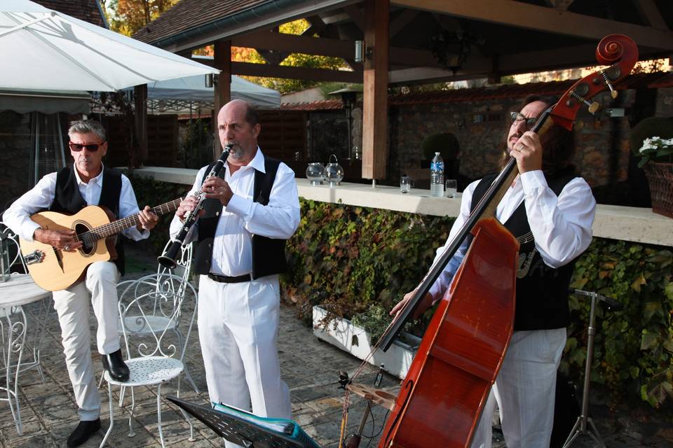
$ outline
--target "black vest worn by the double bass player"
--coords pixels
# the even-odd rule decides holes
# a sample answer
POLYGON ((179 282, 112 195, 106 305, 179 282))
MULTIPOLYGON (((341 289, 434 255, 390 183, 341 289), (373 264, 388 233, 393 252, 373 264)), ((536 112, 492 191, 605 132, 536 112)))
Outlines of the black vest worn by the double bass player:
MULTIPOLYGON (((558 196, 574 177, 572 172, 564 172, 554 179, 548 179, 548 186, 558 196)), ((496 175, 492 174, 480 181, 475 188, 470 209, 475 209, 495 178, 496 175)), ((524 202, 503 225, 520 244, 514 329, 549 330, 568 326, 568 286, 576 260, 558 269, 545 264, 535 248, 524 202)))

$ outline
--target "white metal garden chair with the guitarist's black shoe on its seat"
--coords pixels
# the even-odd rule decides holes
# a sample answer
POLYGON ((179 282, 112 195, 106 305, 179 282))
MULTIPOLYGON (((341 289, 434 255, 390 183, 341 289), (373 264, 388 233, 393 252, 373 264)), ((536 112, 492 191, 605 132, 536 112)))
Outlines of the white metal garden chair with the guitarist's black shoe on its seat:
MULTIPOLYGON (((175 328, 184 300, 196 299, 196 289, 183 276, 170 273, 150 274, 135 281, 124 282, 125 288, 118 296, 119 323, 124 337, 127 353, 126 365, 130 370, 127 381, 111 379, 105 371, 103 377, 108 383, 110 426, 100 446, 102 447, 109 437, 114 426, 114 412, 112 403, 112 386, 121 387, 121 394, 125 388, 131 388, 131 406, 129 409, 129 433, 133 430, 133 412, 135 410, 136 386, 156 386, 156 407, 159 438, 164 447, 163 430, 161 423, 161 386, 171 379, 177 378, 177 395, 179 395, 179 377, 184 372, 184 346, 189 339, 189 332, 184 340, 177 337, 175 328), (176 335, 172 337, 172 335, 176 335), (184 344, 179 348, 177 341, 184 344)), ((190 325, 191 330, 191 325, 190 325)), ((121 401, 121 398, 120 398, 121 401)), ((182 410, 181 410, 182 412, 182 410)), ((184 418, 189 423, 190 438, 193 441, 193 425, 184 412, 184 418)))

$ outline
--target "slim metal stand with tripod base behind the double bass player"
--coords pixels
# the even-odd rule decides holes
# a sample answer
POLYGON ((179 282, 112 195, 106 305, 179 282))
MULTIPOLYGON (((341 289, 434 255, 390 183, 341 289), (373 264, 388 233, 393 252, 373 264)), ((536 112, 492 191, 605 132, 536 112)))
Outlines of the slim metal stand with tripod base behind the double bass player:
POLYGON ((579 289, 569 290, 571 294, 586 295, 591 297, 591 309, 589 312, 589 328, 587 329, 587 362, 584 367, 584 389, 582 393, 582 412, 578 416, 575 426, 570 431, 566 442, 563 444, 563 448, 570 447, 571 444, 576 440, 580 434, 589 435, 594 442, 596 442, 599 447, 606 448, 603 440, 601 440, 601 435, 594 425, 594 421, 589 416, 589 381, 591 376, 591 361, 594 357, 594 336, 596 335, 596 329, 594 328, 594 317, 596 311, 596 299, 606 302, 609 309, 621 309, 622 305, 611 297, 606 297, 597 293, 590 293, 588 291, 583 291, 579 289), (587 429, 587 423, 590 426, 591 430, 587 429))

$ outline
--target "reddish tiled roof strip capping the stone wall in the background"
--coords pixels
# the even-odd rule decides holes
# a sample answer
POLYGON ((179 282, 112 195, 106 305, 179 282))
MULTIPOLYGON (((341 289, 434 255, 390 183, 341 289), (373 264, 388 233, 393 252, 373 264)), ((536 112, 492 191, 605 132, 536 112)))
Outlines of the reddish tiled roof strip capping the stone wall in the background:
MULTIPOLYGON (((484 101, 488 99, 523 98, 529 94, 560 95, 576 80, 550 81, 546 83, 504 84, 470 89, 435 90, 410 94, 388 95, 390 106, 409 104, 435 104, 459 101, 484 101)), ((617 85, 618 90, 673 87, 673 73, 636 73, 617 85)), ((283 103, 286 111, 329 111, 342 109, 341 100, 326 99, 312 103, 283 103)))

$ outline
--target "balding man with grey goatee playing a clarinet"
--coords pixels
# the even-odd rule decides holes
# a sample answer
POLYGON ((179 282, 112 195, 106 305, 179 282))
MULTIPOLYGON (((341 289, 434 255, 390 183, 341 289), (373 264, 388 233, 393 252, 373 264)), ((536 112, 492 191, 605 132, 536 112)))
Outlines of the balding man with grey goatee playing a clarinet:
MULTIPOLYGON (((182 229, 201 192, 205 200, 187 241, 196 241, 200 274, 198 333, 212 402, 259 416, 291 417, 290 391, 280 379, 276 349, 280 310, 278 274, 285 270, 285 240, 299 225, 294 172, 257 146, 257 111, 233 100, 217 115, 222 147, 231 151, 219 176, 200 169, 171 223, 182 229)), ((235 447, 226 442, 227 447, 235 447)))

